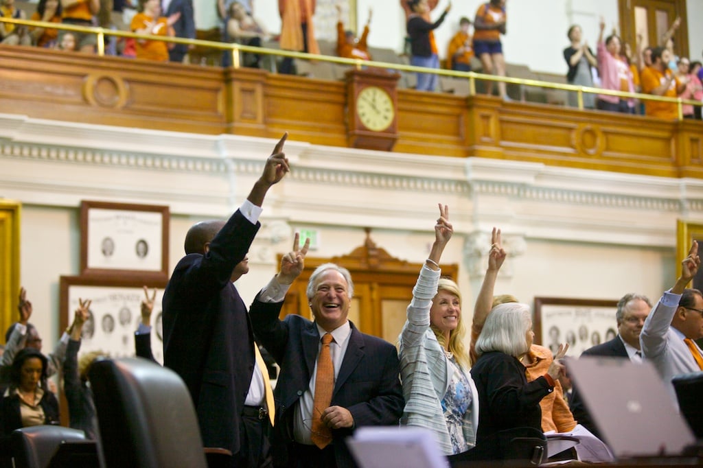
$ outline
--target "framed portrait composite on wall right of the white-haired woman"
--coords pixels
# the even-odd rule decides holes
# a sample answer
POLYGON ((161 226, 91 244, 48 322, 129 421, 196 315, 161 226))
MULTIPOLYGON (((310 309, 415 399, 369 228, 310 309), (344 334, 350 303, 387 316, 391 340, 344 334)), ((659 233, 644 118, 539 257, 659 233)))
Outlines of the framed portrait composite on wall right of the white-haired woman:
POLYGON ((556 353, 560 343, 568 343, 567 356, 617 336, 617 299, 534 298, 534 342, 556 353))

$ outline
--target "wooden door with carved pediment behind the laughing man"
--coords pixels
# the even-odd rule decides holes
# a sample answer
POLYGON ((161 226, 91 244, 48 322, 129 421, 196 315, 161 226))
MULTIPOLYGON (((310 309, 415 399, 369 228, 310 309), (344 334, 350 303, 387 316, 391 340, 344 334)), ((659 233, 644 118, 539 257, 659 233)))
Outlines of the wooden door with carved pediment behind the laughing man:
MULTIPOLYGON (((395 344, 405 323, 406 308, 413 297, 413 286, 422 264, 392 257, 375 245, 367 230, 364 244, 348 255, 305 259, 305 270, 285 297, 281 318, 295 313, 312 319, 305 290, 315 268, 326 263, 343 266, 352 273, 354 297, 349 320, 362 332, 395 344)), ((442 275, 456 279, 457 273, 457 264, 442 264, 442 275)))

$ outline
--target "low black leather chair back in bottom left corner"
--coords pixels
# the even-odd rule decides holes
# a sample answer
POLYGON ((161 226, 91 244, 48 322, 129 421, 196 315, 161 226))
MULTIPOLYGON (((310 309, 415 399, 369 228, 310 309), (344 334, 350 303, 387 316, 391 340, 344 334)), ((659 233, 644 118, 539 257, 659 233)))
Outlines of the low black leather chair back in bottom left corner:
MULTIPOLYGON (((97 452, 93 441, 86 441, 83 431, 62 426, 32 426, 16 429, 10 435, 15 467, 46 468, 54 456, 64 446, 82 444, 93 451, 94 464, 98 466, 97 452)), ((65 450, 62 450, 62 452, 65 450)), ((59 466, 57 462, 53 466, 59 466)), ((86 467, 87 468, 87 467, 86 467)))

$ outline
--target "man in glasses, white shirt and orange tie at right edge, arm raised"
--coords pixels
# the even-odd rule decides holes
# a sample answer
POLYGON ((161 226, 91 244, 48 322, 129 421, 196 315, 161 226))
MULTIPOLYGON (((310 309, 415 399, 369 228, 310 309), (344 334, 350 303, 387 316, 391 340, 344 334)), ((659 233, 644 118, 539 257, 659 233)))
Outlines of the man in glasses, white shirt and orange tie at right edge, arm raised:
POLYGON ((703 351, 693 341, 703 338, 703 294, 686 285, 700 267, 698 242, 681 262, 681 276, 645 320, 640 344, 645 360, 651 360, 676 404, 671 378, 703 371, 703 351))

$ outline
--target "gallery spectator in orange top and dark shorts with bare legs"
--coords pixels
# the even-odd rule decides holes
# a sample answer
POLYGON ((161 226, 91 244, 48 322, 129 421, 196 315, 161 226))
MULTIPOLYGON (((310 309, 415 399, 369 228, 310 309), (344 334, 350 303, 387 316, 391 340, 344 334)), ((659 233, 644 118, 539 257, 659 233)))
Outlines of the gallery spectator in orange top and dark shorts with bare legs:
MULTIPOLYGON (((501 34, 507 32, 508 16, 505 14, 505 0, 490 0, 479 6, 474 19, 474 53, 481 60, 485 74, 505 76, 505 58, 501 34)), ((486 85, 486 93, 493 93, 493 82, 486 85)), ((498 94, 508 100, 505 82, 498 82, 498 94)))

